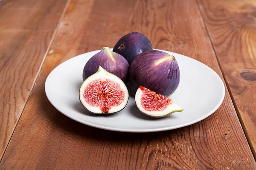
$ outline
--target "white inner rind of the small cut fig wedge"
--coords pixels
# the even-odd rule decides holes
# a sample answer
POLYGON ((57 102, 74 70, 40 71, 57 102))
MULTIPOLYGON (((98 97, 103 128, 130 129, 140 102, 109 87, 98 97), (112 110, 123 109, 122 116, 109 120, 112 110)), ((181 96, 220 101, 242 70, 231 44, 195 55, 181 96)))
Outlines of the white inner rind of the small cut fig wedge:
POLYGON ((143 108, 141 98, 143 95, 143 91, 138 88, 136 95, 135 95, 135 102, 137 105, 137 108, 144 114, 152 117, 163 117, 166 115, 169 115, 171 113, 180 112, 183 111, 182 108, 180 108, 178 105, 176 105, 174 102, 171 102, 165 109, 161 111, 147 111, 143 108))

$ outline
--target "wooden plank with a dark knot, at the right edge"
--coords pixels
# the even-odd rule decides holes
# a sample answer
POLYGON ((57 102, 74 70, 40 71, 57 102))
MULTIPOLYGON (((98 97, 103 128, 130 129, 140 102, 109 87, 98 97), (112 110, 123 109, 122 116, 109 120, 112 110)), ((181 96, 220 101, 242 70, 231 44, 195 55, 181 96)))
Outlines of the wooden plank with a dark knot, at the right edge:
POLYGON ((198 4, 256 158, 256 1, 198 0, 198 4))

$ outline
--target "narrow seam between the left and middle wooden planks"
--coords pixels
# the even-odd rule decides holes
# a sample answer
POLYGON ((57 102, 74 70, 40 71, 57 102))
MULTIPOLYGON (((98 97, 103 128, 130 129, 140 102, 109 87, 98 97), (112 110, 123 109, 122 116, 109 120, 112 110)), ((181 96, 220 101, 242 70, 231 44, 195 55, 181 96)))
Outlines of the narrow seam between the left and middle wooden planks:
MULTIPOLYGON (((1 3, 1 0, 0 0, 0 3, 1 3)), ((69 6, 69 4, 70 4, 70 0, 67 0, 67 3, 66 3, 66 5, 65 5, 65 8, 64 8, 62 14, 61 14, 61 18, 60 18, 60 20, 59 20, 59 22, 58 22, 58 25, 57 25, 57 27, 56 27, 56 29, 55 29, 53 35, 52 35, 52 39, 51 39, 51 41, 50 41, 50 43, 49 43, 49 46, 48 46, 48 48, 47 48, 47 51, 46 51, 45 54, 44 54, 44 58, 43 58, 43 60, 42 60, 42 62, 41 62, 41 65, 40 65, 40 67, 39 67, 39 69, 38 69, 38 73, 37 73, 37 75, 36 75, 35 81, 33 82, 33 86, 32 86, 32 89, 31 89, 31 91, 30 91, 30 93, 29 93, 29 96, 28 96, 28 98, 26 99, 26 102, 25 102, 25 105, 24 105, 24 107, 23 107, 23 109, 22 109, 22 112, 21 112, 21 114, 20 114, 20 117, 22 116, 23 111, 24 111, 24 109, 25 109, 25 107, 26 107, 26 104, 27 104, 27 102, 28 102, 28 100, 29 100, 29 97, 30 97, 30 95, 32 94, 32 91, 33 91, 33 89, 34 89, 34 87, 35 87, 35 83, 36 83, 36 81, 37 81, 37 79, 38 79, 38 76, 39 76, 39 74, 40 74, 40 72, 41 72, 41 70, 42 70, 42 68, 43 68, 44 61, 45 61, 45 59, 46 59, 46 57, 47 57, 47 55, 48 55, 48 53, 49 53, 49 50, 50 50, 50 48, 51 48, 51 46, 52 46, 53 41, 55 40, 55 37, 56 37, 56 35, 57 35, 57 33, 58 33, 58 30, 59 30, 61 21, 63 20, 64 15, 66 14, 67 7, 69 6)), ((1 4, 0 4, 0 5, 1 5, 1 4)), ((12 136, 13 136, 15 130, 16 130, 17 124, 18 124, 18 122, 20 121, 20 117, 18 118, 17 122, 15 123, 14 130, 12 131, 12 135, 11 135, 11 137, 9 138, 9 142, 8 142, 8 144, 6 145, 6 148, 4 149, 3 156, 4 156, 4 154, 6 153, 6 150, 7 150, 8 146, 9 146, 9 144, 10 144, 10 141, 11 141, 11 139, 12 139, 12 136)), ((0 158, 0 162, 3 160, 3 156, 0 158)))

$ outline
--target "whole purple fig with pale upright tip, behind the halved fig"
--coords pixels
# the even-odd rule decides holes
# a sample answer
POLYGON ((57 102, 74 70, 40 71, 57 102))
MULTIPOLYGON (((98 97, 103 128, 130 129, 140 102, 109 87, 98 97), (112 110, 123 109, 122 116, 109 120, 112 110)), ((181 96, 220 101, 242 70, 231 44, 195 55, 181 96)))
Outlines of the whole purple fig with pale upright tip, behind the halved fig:
POLYGON ((129 63, 120 54, 111 51, 108 47, 95 54, 84 66, 83 80, 96 73, 99 66, 105 68, 109 73, 115 74, 122 81, 128 83, 129 63))

